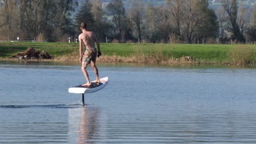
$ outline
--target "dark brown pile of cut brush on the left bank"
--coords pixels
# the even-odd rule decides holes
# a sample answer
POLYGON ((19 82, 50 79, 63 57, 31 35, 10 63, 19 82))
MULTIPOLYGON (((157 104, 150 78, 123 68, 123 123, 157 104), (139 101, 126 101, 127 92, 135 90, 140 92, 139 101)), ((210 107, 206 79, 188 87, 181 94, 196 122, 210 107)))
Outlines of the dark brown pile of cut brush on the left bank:
POLYGON ((18 60, 30 60, 30 59, 53 59, 48 52, 34 50, 33 47, 28 47, 25 52, 19 52, 17 55, 11 56, 11 58, 18 58, 18 60))

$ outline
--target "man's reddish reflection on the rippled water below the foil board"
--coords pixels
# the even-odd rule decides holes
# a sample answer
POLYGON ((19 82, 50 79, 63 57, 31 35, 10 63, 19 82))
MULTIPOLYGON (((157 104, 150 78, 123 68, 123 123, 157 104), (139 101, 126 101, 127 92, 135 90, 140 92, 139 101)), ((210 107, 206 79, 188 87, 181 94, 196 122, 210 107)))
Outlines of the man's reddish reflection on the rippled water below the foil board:
POLYGON ((98 109, 90 107, 81 107, 80 109, 81 117, 78 127, 77 143, 93 143, 91 140, 96 139, 97 135, 98 109))

